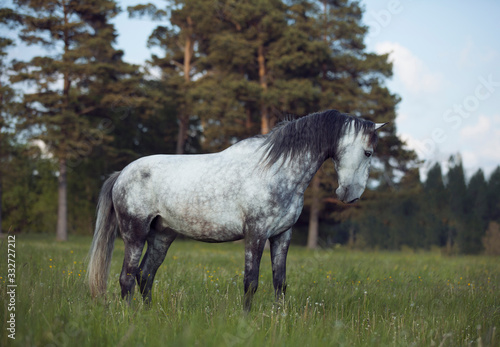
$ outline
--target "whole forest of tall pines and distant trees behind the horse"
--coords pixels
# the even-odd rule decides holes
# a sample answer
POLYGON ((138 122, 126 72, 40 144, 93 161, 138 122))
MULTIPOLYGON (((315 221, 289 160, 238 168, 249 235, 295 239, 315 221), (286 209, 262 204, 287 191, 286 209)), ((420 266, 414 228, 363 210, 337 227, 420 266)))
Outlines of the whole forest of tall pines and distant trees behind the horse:
POLYGON ((436 166, 421 182, 416 154, 396 136, 400 98, 385 85, 392 65, 366 50, 362 16, 350 0, 167 0, 126 9, 112 0, 15 0, 1 8, 9 33, 0 36, 2 229, 54 231, 59 240, 91 234, 100 186, 134 159, 219 151, 290 114, 337 109, 389 122, 371 189, 359 204, 340 204, 325 164, 295 242, 490 252, 500 234, 500 169, 466 182, 455 157, 445 176, 436 166), (112 19, 122 11, 158 23, 147 44, 161 53, 144 66, 115 47, 112 19), (44 54, 8 61, 18 42, 44 54))

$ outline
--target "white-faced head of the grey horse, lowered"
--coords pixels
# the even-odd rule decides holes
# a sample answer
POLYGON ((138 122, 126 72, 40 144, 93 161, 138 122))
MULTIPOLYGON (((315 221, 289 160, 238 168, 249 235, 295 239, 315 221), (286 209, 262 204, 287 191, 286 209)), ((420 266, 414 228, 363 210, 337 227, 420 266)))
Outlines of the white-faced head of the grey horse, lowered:
POLYGON ((348 123, 343 136, 339 139, 333 162, 339 179, 336 193, 344 203, 353 203, 363 194, 376 145, 375 132, 387 123, 371 124, 370 130, 366 131, 356 129, 348 123))

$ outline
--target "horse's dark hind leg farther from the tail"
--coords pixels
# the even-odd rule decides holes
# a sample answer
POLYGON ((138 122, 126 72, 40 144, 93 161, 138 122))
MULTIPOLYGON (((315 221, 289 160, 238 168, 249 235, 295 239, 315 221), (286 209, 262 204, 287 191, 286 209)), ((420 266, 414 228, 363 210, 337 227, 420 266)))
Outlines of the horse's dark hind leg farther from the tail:
POLYGON ((136 275, 142 297, 147 304, 151 303, 151 288, 153 287, 156 271, 163 263, 168 248, 176 236, 177 233, 171 229, 161 231, 153 229, 148 236, 148 249, 136 275))

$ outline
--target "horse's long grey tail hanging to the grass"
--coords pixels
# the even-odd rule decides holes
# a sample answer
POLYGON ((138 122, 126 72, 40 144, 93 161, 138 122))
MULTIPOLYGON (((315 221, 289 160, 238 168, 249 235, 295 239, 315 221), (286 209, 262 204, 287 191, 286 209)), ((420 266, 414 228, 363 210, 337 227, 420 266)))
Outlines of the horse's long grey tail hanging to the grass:
POLYGON ((104 182, 97 203, 97 221, 87 269, 92 297, 106 293, 111 256, 118 229, 111 192, 119 175, 120 172, 115 172, 104 182))

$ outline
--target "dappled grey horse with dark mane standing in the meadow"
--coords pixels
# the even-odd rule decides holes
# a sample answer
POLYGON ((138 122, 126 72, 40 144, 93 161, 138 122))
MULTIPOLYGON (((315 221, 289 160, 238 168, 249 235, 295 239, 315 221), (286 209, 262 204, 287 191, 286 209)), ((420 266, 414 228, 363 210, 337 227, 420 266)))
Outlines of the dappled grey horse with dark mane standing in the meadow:
POLYGON ((93 296, 106 292, 117 232, 125 243, 121 295, 135 281, 146 302, 158 267, 179 234, 206 242, 245 240, 244 308, 257 290, 266 240, 271 245, 275 294, 285 292, 286 256, 304 191, 332 158, 336 193, 356 201, 368 179, 377 142, 375 124, 329 110, 278 124, 269 134, 201 155, 152 155, 109 177, 101 190, 90 249, 93 296), (144 245, 146 254, 139 264, 144 245))

